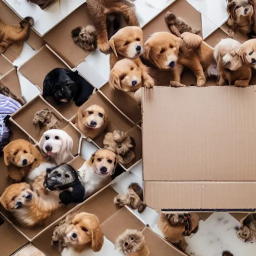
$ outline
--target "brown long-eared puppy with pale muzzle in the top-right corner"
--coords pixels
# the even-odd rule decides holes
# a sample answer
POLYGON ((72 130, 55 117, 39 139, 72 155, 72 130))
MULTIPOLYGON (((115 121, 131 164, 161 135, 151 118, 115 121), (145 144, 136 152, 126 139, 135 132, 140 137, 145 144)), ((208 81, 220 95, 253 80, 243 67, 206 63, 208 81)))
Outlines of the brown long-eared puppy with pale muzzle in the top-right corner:
POLYGON ((255 0, 227 0, 227 24, 234 30, 247 34, 255 29, 255 0))

